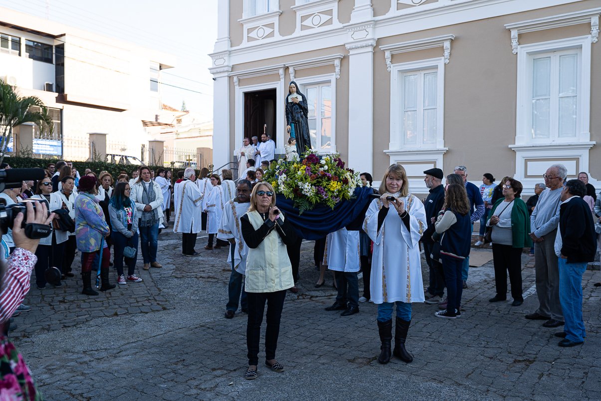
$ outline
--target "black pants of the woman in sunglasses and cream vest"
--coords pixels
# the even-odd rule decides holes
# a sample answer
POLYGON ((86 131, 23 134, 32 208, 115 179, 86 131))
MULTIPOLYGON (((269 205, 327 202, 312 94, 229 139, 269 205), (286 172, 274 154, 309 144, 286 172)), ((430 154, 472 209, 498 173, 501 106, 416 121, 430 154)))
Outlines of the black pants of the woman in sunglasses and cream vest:
POLYGON ((246 323, 246 346, 248 347, 248 364, 258 365, 259 341, 261 339, 261 323, 267 303, 267 329, 265 331, 265 360, 275 359, 278 347, 279 321, 282 317, 286 290, 274 293, 247 293, 248 322, 246 323))

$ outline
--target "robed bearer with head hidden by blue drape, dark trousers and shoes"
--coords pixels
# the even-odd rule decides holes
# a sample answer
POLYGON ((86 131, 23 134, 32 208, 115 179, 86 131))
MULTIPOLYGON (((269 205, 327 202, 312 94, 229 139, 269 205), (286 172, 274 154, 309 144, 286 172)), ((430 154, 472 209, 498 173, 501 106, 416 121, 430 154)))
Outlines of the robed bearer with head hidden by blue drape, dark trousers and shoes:
POLYGON ((341 316, 359 312, 359 249, 359 231, 348 231, 343 227, 328 234, 323 263, 334 271, 338 295, 334 305, 328 306, 326 311, 343 310, 341 316))

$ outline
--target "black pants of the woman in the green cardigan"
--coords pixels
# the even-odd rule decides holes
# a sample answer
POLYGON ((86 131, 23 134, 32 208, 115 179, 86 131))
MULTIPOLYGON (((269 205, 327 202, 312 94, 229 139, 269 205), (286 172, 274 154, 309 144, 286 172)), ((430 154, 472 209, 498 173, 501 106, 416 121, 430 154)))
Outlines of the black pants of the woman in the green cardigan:
POLYGON ((496 296, 507 299, 507 272, 511 283, 511 297, 522 300, 522 248, 511 245, 492 244, 492 257, 495 265, 496 296))

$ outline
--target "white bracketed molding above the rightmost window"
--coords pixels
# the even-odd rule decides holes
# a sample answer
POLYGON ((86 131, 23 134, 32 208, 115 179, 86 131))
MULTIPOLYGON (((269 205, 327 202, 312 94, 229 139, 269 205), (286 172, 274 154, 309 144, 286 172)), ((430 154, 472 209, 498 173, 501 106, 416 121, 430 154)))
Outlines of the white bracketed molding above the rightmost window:
POLYGON ((601 8, 591 8, 589 10, 573 11, 572 13, 558 14, 550 17, 507 23, 505 24, 505 29, 511 31, 511 52, 517 54, 519 34, 578 25, 579 23, 591 24, 591 42, 597 43, 599 41, 600 15, 601 8))

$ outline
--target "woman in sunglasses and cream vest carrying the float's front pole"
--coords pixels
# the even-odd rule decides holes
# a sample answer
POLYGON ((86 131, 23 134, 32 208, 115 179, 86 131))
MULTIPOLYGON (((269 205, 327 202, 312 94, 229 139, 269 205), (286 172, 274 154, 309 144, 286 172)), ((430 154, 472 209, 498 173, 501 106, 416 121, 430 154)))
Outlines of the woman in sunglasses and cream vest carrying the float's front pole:
POLYGON ((242 237, 249 248, 245 279, 245 291, 248 293, 248 370, 244 377, 250 380, 257 377, 265 303, 265 365, 273 371, 284 370, 284 366, 275 359, 275 350, 278 346, 279 320, 286 290, 294 286, 286 246, 294 243, 296 233, 288 225, 284 214, 275 206, 275 192, 267 182, 255 185, 251 194, 251 205, 240 218, 240 222, 242 237))

